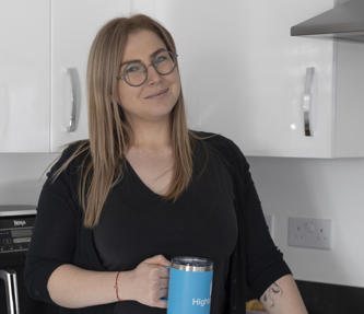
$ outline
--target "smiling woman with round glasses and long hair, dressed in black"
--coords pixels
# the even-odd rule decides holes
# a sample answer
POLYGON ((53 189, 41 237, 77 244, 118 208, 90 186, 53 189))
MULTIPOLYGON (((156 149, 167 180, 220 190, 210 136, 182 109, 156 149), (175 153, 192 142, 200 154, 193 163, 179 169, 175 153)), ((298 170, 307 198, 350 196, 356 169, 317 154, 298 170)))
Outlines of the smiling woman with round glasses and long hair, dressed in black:
POLYGON ((187 129, 174 40, 145 15, 108 22, 87 67, 90 140, 48 173, 25 281, 60 313, 166 313, 169 259, 213 259, 211 313, 307 313, 239 149, 187 129))

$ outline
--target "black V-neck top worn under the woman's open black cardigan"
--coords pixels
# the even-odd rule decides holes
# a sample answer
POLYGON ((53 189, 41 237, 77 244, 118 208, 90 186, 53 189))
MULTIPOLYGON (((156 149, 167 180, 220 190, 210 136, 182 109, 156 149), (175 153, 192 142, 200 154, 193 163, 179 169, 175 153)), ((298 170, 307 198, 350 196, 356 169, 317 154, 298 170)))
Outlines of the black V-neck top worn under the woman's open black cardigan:
MULTIPOLYGON (((190 185, 175 203, 152 191, 127 161, 93 234, 107 270, 130 270, 158 254, 169 260, 180 255, 211 258, 211 314, 223 313, 230 257, 237 240, 233 185, 219 156, 212 152, 208 156, 200 144, 195 148, 190 185)), ((115 313, 166 310, 127 301, 118 303, 115 313)))

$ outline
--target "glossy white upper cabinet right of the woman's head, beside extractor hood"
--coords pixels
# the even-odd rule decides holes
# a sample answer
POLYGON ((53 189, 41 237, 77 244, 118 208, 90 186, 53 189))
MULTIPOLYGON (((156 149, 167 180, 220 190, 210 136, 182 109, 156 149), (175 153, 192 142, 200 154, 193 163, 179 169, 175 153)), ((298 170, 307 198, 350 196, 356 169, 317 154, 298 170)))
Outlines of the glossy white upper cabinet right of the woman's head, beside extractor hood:
POLYGON ((364 44, 290 36, 333 5, 133 0, 131 11, 172 32, 190 128, 223 133, 247 155, 364 156, 364 44), (303 111, 308 68, 312 136, 303 111))

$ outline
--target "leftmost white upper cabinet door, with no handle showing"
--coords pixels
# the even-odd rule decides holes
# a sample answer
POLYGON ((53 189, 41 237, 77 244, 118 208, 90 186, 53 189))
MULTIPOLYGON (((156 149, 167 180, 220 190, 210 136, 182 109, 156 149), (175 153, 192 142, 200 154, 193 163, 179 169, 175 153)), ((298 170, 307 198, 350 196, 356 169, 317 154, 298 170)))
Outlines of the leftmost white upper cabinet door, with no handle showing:
POLYGON ((49 150, 49 1, 0 1, 0 152, 49 150))

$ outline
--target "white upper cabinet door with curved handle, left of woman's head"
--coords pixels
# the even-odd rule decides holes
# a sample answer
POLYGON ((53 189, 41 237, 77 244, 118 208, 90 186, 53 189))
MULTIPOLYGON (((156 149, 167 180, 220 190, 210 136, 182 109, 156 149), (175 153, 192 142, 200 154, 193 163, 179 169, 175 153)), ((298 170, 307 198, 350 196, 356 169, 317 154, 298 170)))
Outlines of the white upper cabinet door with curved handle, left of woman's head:
POLYGON ((97 31, 129 14, 127 0, 51 1, 51 151, 89 138, 86 67, 97 31))

